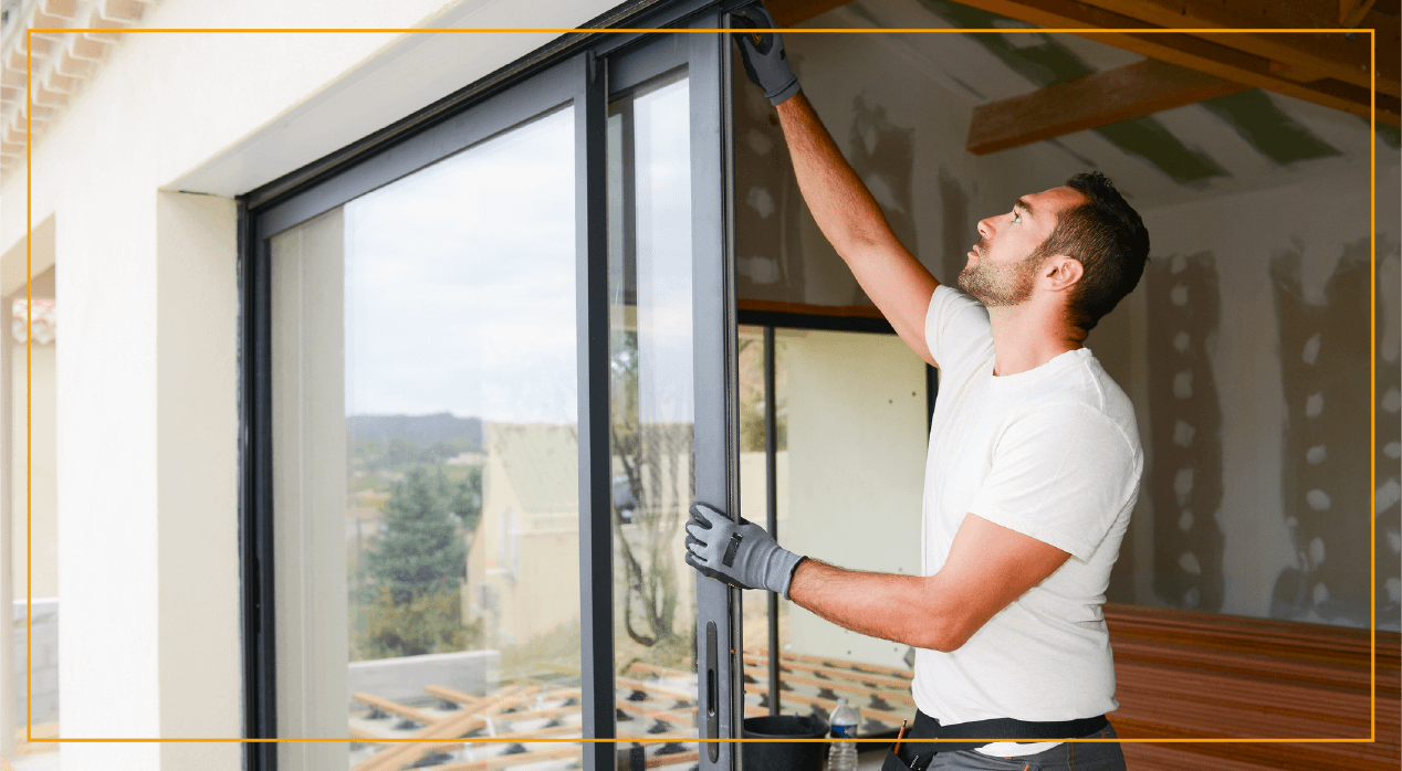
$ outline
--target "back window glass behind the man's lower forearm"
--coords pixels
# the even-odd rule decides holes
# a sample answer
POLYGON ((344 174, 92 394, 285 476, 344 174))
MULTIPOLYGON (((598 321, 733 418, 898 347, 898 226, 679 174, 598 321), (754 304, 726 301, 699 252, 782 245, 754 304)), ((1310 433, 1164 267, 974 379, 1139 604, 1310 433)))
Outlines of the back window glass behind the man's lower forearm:
MULTIPOLYGON (((740 341, 740 495, 746 517, 761 521, 763 336, 742 329, 740 341)), ((780 543, 844 568, 918 573, 924 363, 896 335, 803 329, 775 329, 775 359, 780 543), (830 533, 844 533, 843 543, 830 533)), ((770 704, 768 634, 754 629, 767 622, 764 593, 746 592, 747 708, 770 704)), ((847 698, 864 733, 896 729, 914 715, 907 652, 780 600, 780 708, 826 719, 847 698)))

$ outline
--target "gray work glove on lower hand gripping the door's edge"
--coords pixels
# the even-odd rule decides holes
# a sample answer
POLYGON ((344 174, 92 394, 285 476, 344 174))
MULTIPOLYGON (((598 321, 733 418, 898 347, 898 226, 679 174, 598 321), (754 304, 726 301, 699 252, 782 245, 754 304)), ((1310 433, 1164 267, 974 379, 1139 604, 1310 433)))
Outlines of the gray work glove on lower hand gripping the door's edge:
POLYGON ((805 558, 778 545, 763 527, 691 505, 687 521, 687 565, 704 576, 740 589, 768 589, 788 600, 794 571, 805 558))

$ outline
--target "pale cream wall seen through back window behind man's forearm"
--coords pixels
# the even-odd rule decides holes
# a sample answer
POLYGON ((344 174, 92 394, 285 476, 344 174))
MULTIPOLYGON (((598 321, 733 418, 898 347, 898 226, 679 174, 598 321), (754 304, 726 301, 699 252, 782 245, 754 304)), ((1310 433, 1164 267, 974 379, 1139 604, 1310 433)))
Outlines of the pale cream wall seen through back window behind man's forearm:
MULTIPOLYGON (((808 332, 788 346, 785 548, 857 571, 920 575, 925 364, 894 335, 808 332)), ((907 646, 789 607, 796 653, 904 666, 907 646)))

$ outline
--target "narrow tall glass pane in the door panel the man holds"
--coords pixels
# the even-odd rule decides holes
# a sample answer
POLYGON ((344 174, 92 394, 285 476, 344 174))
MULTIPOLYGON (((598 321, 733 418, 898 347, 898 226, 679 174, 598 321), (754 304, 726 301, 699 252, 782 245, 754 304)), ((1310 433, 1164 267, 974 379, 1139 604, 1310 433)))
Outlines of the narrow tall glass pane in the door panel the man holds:
POLYGON ((648 767, 697 763, 695 572, 681 554, 695 491, 688 112, 672 76, 608 114, 617 730, 665 740, 620 746, 648 767))

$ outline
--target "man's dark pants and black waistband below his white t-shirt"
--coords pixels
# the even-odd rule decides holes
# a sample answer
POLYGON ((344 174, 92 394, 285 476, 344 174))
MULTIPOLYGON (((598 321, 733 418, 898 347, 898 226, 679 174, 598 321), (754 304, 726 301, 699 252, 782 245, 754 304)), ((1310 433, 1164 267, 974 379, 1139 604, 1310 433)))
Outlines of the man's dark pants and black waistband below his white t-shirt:
MULTIPOLYGON (((1081 739, 1115 739, 1115 729, 1106 725, 1081 739)), ((887 751, 882 771, 1124 771, 1124 753, 1117 742, 1063 742, 1042 753, 1008 758, 977 750, 937 751, 931 758, 924 747, 903 743, 900 757, 887 751)))

